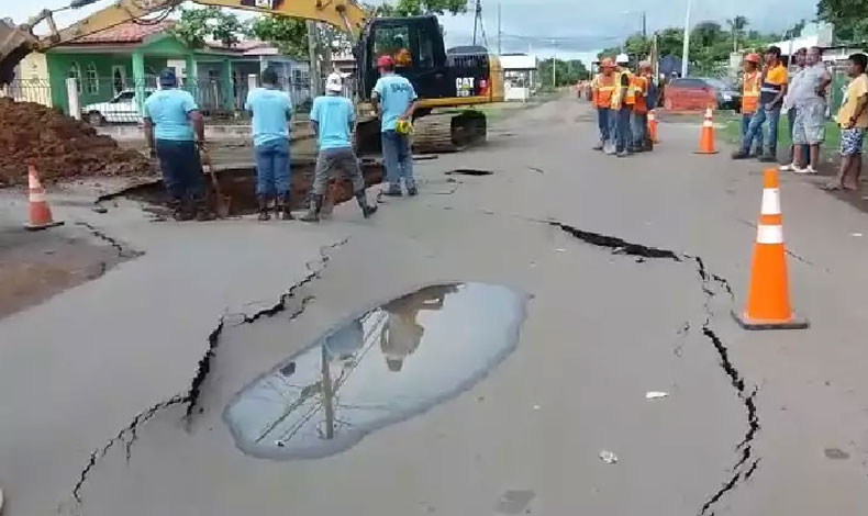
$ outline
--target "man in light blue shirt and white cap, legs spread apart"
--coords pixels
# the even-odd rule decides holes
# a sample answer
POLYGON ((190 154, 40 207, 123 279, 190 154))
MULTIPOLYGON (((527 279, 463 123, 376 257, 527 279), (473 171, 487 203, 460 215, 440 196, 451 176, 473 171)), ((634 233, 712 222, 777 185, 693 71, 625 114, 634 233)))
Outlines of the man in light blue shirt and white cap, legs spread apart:
POLYGON ((368 205, 365 179, 353 150, 352 134, 356 109, 349 99, 341 94, 343 89, 341 75, 332 74, 325 82, 325 96, 313 100, 311 123, 320 143, 320 155, 316 158, 310 210, 301 217, 304 222, 320 222, 323 195, 335 168, 342 168, 344 175, 353 181, 353 192, 365 218, 377 211, 376 205, 368 205))

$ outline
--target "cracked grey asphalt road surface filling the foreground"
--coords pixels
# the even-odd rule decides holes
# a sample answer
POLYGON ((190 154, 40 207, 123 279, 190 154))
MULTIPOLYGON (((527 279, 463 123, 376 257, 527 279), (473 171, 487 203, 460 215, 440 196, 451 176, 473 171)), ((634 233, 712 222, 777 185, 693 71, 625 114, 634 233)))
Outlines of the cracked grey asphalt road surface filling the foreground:
POLYGON ((745 333, 730 311, 756 164, 693 155, 685 124, 661 124, 653 155, 594 153, 592 112, 571 99, 492 133, 420 162, 420 197, 369 221, 350 203, 315 227, 60 206, 145 254, 0 321, 4 514, 865 514, 868 215, 783 177, 793 304, 812 327, 745 333), (502 315, 468 285, 423 295, 409 321, 401 302, 376 310, 453 282, 507 287, 522 309, 502 315), (360 314, 372 359, 329 345, 332 367, 361 375, 334 377, 331 439, 372 429, 279 457, 330 438, 316 394, 331 373, 294 379, 316 377, 312 346, 360 314), (396 351, 399 329, 415 347, 396 351), (269 403, 292 418, 314 400, 313 423, 256 458, 227 422, 272 380, 269 403))

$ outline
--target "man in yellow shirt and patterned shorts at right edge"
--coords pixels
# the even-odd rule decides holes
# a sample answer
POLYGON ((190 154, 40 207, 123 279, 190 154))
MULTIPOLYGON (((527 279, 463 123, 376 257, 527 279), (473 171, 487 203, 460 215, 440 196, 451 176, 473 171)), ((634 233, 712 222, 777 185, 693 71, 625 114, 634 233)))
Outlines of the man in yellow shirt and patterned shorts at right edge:
POLYGON ((859 190, 863 170, 863 143, 868 130, 868 76, 865 68, 868 57, 854 54, 849 57, 847 75, 853 79, 844 94, 835 121, 841 125, 841 170, 827 190, 859 190))

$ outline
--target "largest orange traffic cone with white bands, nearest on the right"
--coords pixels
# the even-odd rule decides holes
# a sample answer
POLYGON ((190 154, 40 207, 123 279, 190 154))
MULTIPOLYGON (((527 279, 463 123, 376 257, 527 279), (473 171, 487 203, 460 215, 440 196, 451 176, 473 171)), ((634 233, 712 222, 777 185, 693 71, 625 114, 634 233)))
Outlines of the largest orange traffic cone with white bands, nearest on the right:
POLYGON ((780 189, 778 171, 774 168, 766 169, 763 177, 763 207, 747 306, 741 314, 733 311, 733 317, 745 329, 800 329, 809 326, 808 321, 797 317, 790 307, 780 189))

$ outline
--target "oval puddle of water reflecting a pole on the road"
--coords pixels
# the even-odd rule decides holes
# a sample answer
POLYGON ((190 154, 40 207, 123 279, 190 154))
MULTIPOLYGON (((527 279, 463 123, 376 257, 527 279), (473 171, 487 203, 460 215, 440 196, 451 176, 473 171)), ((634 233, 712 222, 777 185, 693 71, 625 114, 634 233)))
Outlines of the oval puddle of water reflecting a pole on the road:
POLYGON ((487 283, 403 295, 279 363, 236 394, 223 419, 254 457, 337 453, 482 379, 515 349, 526 301, 487 283))

